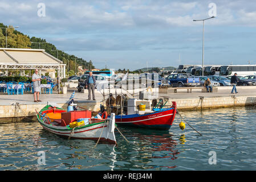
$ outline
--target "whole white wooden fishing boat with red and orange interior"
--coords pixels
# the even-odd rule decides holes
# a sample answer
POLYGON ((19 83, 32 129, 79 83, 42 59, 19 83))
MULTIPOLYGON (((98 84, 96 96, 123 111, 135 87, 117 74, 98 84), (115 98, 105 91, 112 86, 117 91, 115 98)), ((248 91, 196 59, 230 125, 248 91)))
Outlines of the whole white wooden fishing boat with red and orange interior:
POLYGON ((46 105, 37 113, 38 122, 43 129, 59 137, 70 139, 99 140, 104 143, 116 144, 115 138, 115 114, 112 113, 107 119, 91 118, 91 111, 67 112, 59 107, 46 105), (72 126, 78 118, 90 117, 90 123, 82 126, 72 126))

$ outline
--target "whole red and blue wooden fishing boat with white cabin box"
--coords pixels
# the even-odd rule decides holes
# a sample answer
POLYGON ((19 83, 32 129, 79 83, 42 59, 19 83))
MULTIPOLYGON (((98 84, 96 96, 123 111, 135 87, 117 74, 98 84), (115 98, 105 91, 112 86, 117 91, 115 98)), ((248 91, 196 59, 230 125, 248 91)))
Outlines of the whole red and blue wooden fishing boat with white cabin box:
POLYGON ((116 115, 115 122, 117 126, 135 126, 156 130, 170 129, 176 115, 176 102, 172 102, 172 106, 166 109, 149 109, 145 111, 137 111, 137 104, 135 103, 136 100, 133 100, 130 104, 128 101, 127 115, 116 115))

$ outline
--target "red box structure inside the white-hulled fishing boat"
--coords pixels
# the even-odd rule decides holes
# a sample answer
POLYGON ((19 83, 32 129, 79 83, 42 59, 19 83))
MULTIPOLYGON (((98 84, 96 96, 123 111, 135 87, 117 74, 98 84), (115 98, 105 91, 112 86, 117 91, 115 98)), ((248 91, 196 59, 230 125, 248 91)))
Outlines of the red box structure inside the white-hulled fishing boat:
MULTIPOLYGON (((62 119, 64 119, 66 125, 76 121, 79 118, 91 118, 92 112, 91 111, 70 111, 62 113, 62 119)), ((62 121, 61 126, 66 126, 65 123, 62 121)))

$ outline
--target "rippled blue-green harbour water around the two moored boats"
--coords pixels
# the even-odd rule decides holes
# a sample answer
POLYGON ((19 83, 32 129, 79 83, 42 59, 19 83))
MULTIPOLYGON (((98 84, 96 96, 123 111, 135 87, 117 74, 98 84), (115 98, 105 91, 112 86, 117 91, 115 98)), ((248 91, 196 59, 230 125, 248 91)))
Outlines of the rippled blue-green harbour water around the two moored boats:
POLYGON ((3 124, 0 170, 255 170, 255 109, 181 112, 202 136, 188 125, 180 130, 178 115, 169 131, 120 127, 129 143, 116 133, 117 146, 95 149, 94 141, 62 139, 39 123, 3 124))

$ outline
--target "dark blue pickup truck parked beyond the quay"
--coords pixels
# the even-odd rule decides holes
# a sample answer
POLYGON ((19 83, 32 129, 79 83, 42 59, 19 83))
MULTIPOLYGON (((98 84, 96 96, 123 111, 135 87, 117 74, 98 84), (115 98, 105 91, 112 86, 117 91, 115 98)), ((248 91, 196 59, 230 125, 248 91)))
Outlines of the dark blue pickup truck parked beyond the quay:
POLYGON ((165 78, 164 84, 168 81, 170 86, 200 86, 200 78, 190 77, 190 74, 178 73, 171 74, 165 78))

